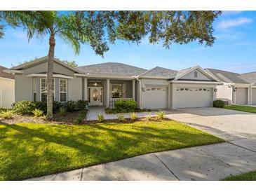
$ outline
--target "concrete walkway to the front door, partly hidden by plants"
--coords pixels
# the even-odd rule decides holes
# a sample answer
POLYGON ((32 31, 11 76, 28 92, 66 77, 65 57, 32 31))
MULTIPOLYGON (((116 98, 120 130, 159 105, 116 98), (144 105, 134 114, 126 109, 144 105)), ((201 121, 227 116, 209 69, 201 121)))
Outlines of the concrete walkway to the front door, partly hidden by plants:
MULTIPOLYGON (((86 117, 87 121, 95 121, 97 120, 97 114, 104 114, 105 119, 117 119, 117 116, 119 114, 106 114, 105 113, 105 107, 103 106, 99 106, 99 107, 90 107, 89 111, 88 111, 88 115, 86 117)), ((155 116, 156 112, 151 111, 151 112, 143 112, 143 113, 136 113, 138 118, 142 118, 145 117, 147 115, 151 115, 151 116, 155 116)), ((130 118, 130 114, 126 113, 126 114, 122 114, 124 116, 124 118, 130 118)))

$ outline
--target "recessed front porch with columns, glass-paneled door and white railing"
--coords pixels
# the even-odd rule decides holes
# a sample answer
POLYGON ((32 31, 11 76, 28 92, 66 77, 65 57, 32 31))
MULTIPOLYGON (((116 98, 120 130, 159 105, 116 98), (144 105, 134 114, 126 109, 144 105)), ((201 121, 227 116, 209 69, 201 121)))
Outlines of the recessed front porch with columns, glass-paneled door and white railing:
POLYGON ((136 100, 135 80, 86 78, 85 95, 90 106, 114 108, 117 100, 136 100))

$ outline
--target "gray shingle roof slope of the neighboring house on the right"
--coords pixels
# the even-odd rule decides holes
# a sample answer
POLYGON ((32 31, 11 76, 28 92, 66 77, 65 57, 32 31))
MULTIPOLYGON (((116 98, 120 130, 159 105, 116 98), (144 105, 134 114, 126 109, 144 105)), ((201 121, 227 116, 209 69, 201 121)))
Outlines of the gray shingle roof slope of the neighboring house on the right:
POLYGON ((212 74, 217 76, 221 81, 225 83, 250 83, 241 78, 241 74, 233 73, 230 71, 222 71, 219 69, 208 69, 212 74))

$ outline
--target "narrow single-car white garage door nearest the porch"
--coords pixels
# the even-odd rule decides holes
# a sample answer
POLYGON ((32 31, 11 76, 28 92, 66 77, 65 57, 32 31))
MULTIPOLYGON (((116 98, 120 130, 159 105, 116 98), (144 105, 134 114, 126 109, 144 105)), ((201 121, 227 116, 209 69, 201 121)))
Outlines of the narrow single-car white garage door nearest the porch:
POLYGON ((168 88, 146 87, 145 106, 149 109, 168 108, 168 88))

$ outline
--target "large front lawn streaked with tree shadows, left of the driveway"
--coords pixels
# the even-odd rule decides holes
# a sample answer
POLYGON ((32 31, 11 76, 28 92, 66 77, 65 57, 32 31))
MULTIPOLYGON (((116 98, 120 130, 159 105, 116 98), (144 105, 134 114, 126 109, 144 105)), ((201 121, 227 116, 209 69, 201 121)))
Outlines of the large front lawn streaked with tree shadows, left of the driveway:
POLYGON ((20 180, 224 140, 176 121, 0 125, 0 180, 20 180))

